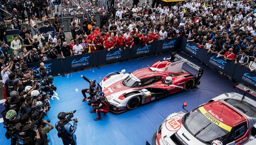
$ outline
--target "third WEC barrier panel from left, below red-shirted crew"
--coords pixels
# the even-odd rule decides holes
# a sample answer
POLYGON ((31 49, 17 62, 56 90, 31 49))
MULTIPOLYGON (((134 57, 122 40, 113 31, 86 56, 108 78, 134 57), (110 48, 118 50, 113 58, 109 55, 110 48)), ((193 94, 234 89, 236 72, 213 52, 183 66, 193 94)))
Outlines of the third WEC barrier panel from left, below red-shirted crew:
POLYGON ((116 61, 122 61, 128 59, 130 55, 130 46, 126 47, 124 50, 121 47, 121 50, 118 48, 113 48, 108 50, 99 51, 99 65, 100 64, 107 64, 116 61))

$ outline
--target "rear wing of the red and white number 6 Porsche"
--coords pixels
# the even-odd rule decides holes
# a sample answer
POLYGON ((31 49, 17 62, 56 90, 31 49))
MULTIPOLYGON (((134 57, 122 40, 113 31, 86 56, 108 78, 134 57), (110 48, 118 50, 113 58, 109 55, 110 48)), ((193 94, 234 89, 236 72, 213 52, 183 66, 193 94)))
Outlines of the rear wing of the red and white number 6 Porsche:
POLYGON ((179 61, 184 60, 185 64, 187 64, 188 66, 190 66, 198 71, 198 74, 194 75, 194 76, 195 76, 195 86, 199 85, 200 84, 199 80, 204 73, 204 67, 199 67, 196 64, 193 64, 192 62, 188 61, 187 59, 181 57, 180 55, 177 55, 176 52, 172 52, 172 57, 169 61, 175 60, 175 58, 177 58, 179 61))

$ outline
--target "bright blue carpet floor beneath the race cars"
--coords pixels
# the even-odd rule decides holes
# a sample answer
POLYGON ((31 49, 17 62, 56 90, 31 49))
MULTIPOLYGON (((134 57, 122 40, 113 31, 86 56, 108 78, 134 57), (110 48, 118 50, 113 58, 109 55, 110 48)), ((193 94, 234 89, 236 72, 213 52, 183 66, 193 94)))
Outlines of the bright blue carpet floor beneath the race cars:
MULTIPOLYGON (((183 53, 179 55, 187 58, 189 61, 199 64, 194 58, 191 58, 183 53)), ((140 59, 131 60, 131 62, 124 61, 116 64, 110 64, 101 67, 101 69, 92 68, 81 72, 71 73, 65 77, 57 76, 54 78, 55 86, 59 100, 54 98, 51 100, 51 110, 47 113, 48 117, 45 119, 51 120, 51 124, 55 125, 58 121, 57 115, 59 112, 76 110, 74 118, 78 119, 78 128, 76 130, 76 137, 78 145, 145 145, 148 141, 152 145, 152 136, 157 130, 160 123, 163 122, 169 114, 183 111, 183 102, 187 102, 187 110, 207 102, 209 99, 225 92, 238 92, 241 90, 233 89, 234 81, 228 81, 228 78, 220 75, 216 71, 205 67, 204 75, 201 78, 201 84, 196 88, 175 93, 172 96, 150 102, 145 105, 137 107, 135 110, 127 111, 121 114, 108 113, 102 115, 102 119, 94 121, 96 113, 90 113, 92 108, 86 102, 82 102, 83 96, 81 89, 88 88, 89 83, 84 81, 80 76, 84 75, 89 79, 96 79, 97 82, 108 73, 121 71, 125 69, 126 72, 133 72, 140 68, 149 67, 154 62, 162 60, 164 57, 169 57, 171 53, 164 53, 156 56, 150 56, 140 59)), ((197 71, 191 67, 183 64, 183 68, 197 74, 197 71)), ((249 96, 249 94, 247 94, 249 96)), ((255 99, 250 96, 250 98, 255 99)), ((73 123, 72 123, 73 124, 73 123)), ((0 124, 1 142, 0 145, 10 144, 4 136, 6 130, 3 128, 3 123, 0 124)), ((48 133, 50 143, 49 145, 61 145, 62 141, 57 136, 56 129, 48 133)))

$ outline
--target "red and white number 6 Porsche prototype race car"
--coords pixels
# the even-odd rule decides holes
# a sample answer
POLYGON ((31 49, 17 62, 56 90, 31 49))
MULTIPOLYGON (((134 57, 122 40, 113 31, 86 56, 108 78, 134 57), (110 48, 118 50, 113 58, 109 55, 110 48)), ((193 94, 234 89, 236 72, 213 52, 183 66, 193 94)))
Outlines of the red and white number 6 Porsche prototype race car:
POLYGON ((110 103, 110 110, 121 113, 172 93, 190 90, 200 84, 203 72, 204 67, 198 67, 173 52, 171 59, 157 61, 151 67, 133 73, 125 73, 125 70, 110 73, 99 85, 110 103), (183 63, 198 70, 198 74, 183 70, 183 63))

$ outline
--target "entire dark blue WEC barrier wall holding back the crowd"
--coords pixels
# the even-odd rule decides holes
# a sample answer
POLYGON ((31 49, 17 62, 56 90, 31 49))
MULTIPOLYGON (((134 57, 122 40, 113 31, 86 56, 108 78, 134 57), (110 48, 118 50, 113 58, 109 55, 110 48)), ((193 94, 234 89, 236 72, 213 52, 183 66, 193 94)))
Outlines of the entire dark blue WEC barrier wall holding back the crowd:
MULTIPOLYGON (((250 72, 247 67, 242 67, 240 65, 234 64, 234 61, 224 61, 224 57, 217 57, 217 54, 207 54, 207 50, 204 48, 199 48, 194 42, 186 42, 186 38, 172 38, 163 41, 153 41, 147 46, 138 44, 134 45, 131 49, 130 46, 126 47, 124 50, 118 48, 113 48, 110 51, 101 50, 97 52, 85 53, 81 55, 69 56, 66 58, 53 59, 48 61, 43 61, 45 67, 48 68, 49 75, 54 75, 57 73, 63 73, 78 69, 84 69, 87 67, 99 66, 102 64, 107 64, 116 61, 127 60, 134 57, 139 57, 143 55, 156 54, 159 52, 172 51, 181 49, 190 55, 194 56, 198 60, 204 62, 205 64, 226 73, 230 77, 244 83, 248 87, 256 89, 256 73, 250 72)), ((28 64, 28 67, 33 70, 39 67, 40 62, 35 62, 28 64)))

